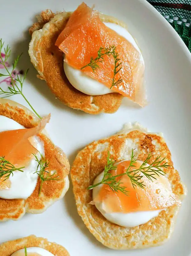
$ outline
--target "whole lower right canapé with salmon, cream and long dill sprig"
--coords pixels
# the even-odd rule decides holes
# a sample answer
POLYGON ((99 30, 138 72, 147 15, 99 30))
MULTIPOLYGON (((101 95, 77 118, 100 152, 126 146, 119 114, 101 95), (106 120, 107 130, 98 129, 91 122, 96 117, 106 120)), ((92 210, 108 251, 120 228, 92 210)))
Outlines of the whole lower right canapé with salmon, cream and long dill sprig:
POLYGON ((186 194, 163 137, 138 124, 85 147, 71 177, 79 215, 113 249, 166 241, 186 194))

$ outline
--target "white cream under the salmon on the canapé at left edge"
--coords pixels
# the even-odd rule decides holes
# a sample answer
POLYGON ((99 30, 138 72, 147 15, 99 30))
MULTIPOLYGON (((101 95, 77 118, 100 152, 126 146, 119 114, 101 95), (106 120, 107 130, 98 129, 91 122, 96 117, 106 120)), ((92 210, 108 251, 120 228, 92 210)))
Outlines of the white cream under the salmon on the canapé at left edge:
MULTIPOLYGON (((0 132, 8 130, 25 129, 16 121, 0 116, 0 132)), ((44 155, 44 145, 37 136, 31 137, 31 143, 33 146, 44 155)), ((40 160, 40 153, 37 153, 37 158, 40 160)), ((10 175, 9 180, 11 186, 8 189, 0 189, 0 197, 5 199, 27 199, 34 191, 38 175, 34 172, 37 170, 37 161, 32 158, 29 165, 23 168, 23 172, 16 171, 13 176, 10 175)))

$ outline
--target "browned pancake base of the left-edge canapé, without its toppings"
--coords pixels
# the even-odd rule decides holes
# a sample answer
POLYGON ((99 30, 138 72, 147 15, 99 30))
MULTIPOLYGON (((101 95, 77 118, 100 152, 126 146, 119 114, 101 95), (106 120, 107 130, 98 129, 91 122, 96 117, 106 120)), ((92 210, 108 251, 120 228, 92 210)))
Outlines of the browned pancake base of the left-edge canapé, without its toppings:
MULTIPOLYGON (((0 99, 0 115, 9 117, 26 128, 36 126, 40 120, 23 105, 2 98, 0 99)), ((40 196, 38 195, 39 178, 34 192, 26 200, 0 198, 0 221, 17 220, 26 212, 44 212, 51 204, 64 197, 69 189, 69 161, 62 149, 56 147, 46 134, 43 131, 38 134, 38 137, 44 143, 45 158, 49 162, 49 168, 56 170, 55 176, 59 176, 59 180, 44 181, 40 196)))

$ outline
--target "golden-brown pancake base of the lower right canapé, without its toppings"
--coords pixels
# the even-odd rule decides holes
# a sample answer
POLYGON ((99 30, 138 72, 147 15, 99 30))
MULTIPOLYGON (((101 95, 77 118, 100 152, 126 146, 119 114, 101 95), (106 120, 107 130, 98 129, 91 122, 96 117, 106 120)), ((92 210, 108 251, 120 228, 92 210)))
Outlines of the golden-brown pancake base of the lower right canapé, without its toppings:
POLYGON ((87 187, 104 170, 108 151, 116 162, 129 159, 132 148, 135 148, 134 154, 140 161, 144 161, 149 153, 152 153, 150 162, 157 156, 165 157, 165 162, 170 165, 165 172, 168 173, 173 193, 181 200, 186 194, 179 173, 173 167, 171 152, 164 138, 148 133, 138 125, 130 128, 126 127, 116 135, 87 145, 78 153, 71 169, 79 215, 97 240, 112 249, 137 249, 163 244, 173 231, 179 206, 168 207, 149 222, 133 228, 118 226, 105 219, 95 205, 89 204, 92 201, 92 190, 87 190, 87 187))

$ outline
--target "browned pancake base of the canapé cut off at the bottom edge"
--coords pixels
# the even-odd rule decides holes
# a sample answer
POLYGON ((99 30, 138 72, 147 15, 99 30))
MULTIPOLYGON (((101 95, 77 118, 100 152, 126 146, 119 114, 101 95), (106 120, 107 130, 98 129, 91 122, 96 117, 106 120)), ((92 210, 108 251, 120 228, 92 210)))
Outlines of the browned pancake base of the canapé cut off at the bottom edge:
POLYGON ((45 238, 36 237, 34 235, 0 244, 0 255, 11 256, 11 254, 20 249, 23 249, 25 246, 41 247, 56 256, 69 256, 68 251, 62 245, 51 243, 45 238))

